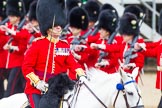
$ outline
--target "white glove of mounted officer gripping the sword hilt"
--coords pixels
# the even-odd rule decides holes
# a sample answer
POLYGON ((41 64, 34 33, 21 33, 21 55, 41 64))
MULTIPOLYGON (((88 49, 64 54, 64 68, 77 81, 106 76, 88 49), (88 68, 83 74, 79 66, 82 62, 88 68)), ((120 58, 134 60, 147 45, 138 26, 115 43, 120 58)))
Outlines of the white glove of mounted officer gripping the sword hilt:
POLYGON ((42 92, 46 92, 48 90, 48 84, 43 80, 40 80, 35 87, 42 92))

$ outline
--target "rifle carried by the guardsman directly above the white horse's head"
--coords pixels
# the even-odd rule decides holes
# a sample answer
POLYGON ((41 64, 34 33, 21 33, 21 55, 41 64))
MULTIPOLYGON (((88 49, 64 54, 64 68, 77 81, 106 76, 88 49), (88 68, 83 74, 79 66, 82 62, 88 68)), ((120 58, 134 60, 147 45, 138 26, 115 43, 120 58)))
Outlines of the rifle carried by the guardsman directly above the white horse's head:
MULTIPOLYGON (((141 27, 141 25, 144 21, 144 18, 145 18, 145 14, 143 15, 142 19, 139 21, 139 28, 141 27)), ((134 52, 134 45, 137 42, 138 37, 139 37, 139 35, 134 37, 132 44, 130 46, 130 49, 125 52, 125 54, 124 54, 125 63, 124 64, 129 64, 131 59, 134 59, 137 57, 137 54, 133 54, 133 52, 134 52)))

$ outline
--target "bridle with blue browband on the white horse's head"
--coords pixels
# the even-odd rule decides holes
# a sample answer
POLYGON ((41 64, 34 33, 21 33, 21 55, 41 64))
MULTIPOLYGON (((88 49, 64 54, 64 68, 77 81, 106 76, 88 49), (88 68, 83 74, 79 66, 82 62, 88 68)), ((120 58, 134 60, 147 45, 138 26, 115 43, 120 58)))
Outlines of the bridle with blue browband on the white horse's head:
MULTIPOLYGON (((128 77, 130 77, 130 76, 128 76, 128 77)), ((131 77, 131 78, 132 78, 132 77, 131 77)), ((136 81, 133 80, 133 78, 132 78, 131 81, 128 81, 128 82, 126 82, 126 83, 123 83, 123 80, 121 79, 121 84, 123 85, 123 87, 124 87, 125 85, 128 85, 128 84, 130 84, 130 83, 135 83, 135 82, 136 82, 136 81)), ((135 85, 135 87, 136 87, 136 85, 135 85)), ((113 107, 115 108, 115 103, 116 103, 116 100, 117 100, 117 98, 118 98, 119 92, 122 91, 122 92, 123 92, 123 96, 124 96, 124 100, 125 100, 125 103, 126 103, 127 108, 144 108, 144 105, 138 105, 139 102, 140 102, 140 99, 141 99, 141 95, 140 95, 140 93, 139 93, 137 87, 136 87, 136 90, 137 90, 137 93, 138 93, 138 96, 139 96, 139 99, 138 99, 138 101, 137 101, 137 103, 136 103, 136 106, 130 107, 130 105, 129 105, 129 103, 128 103, 127 96, 126 96, 126 90, 125 90, 125 88, 123 88, 122 90, 118 90, 117 95, 116 95, 115 100, 114 100, 114 103, 113 103, 113 107)), ((129 94, 129 93, 128 93, 128 94, 129 94)))

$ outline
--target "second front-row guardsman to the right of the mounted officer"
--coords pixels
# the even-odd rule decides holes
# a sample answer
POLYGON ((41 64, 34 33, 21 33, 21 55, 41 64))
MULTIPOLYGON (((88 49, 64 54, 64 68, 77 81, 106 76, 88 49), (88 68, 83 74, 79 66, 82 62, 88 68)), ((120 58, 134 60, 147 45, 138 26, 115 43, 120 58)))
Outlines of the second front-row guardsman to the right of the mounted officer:
MULTIPOLYGON (((110 35, 115 31, 115 29, 117 27, 117 23, 118 23, 117 16, 112 10, 107 9, 107 10, 102 11, 99 15, 99 24, 98 24, 100 37, 98 40, 96 40, 95 44, 104 44, 104 45, 108 44, 107 43, 108 39, 109 39, 110 35)), ((115 42, 115 41, 113 41, 113 42, 115 42)), ((89 54, 89 56, 86 60, 88 68, 95 66, 107 73, 116 72, 116 70, 118 69, 118 60, 115 56, 115 53, 107 54, 107 52, 103 52, 103 51, 99 51, 99 50, 95 50, 95 52, 94 52, 93 48, 91 50, 90 49, 91 48, 89 48, 89 47, 84 49, 84 52, 87 52, 89 54), (93 53, 91 53, 91 52, 93 52, 93 53), (100 54, 107 54, 107 55, 100 58, 101 57, 100 54), (90 59, 93 59, 93 64, 90 63, 90 62, 92 62, 92 60, 90 60, 90 59), (97 61, 97 59, 98 59, 98 61, 97 61)))

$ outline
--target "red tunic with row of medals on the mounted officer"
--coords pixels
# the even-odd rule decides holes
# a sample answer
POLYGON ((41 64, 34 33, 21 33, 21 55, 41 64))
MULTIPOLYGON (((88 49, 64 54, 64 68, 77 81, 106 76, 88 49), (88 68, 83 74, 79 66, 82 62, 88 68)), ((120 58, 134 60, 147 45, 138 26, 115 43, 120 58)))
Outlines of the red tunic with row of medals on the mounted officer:
MULTIPOLYGON (((27 74, 34 72, 41 80, 43 79, 49 44, 50 41, 47 38, 43 38, 32 43, 32 46, 28 49, 25 55, 25 59, 22 65, 22 71, 25 78, 27 74)), ((80 65, 76 63, 72 54, 70 53, 70 47, 67 42, 62 40, 59 40, 56 44, 52 42, 48 59, 46 81, 48 81, 48 79, 53 75, 57 75, 61 72, 67 72, 65 67, 68 67, 70 70, 69 72, 74 72, 74 70, 79 68, 80 65)), ((29 79, 26 79, 27 83, 25 93, 40 94, 39 90, 30 85, 29 79)))

